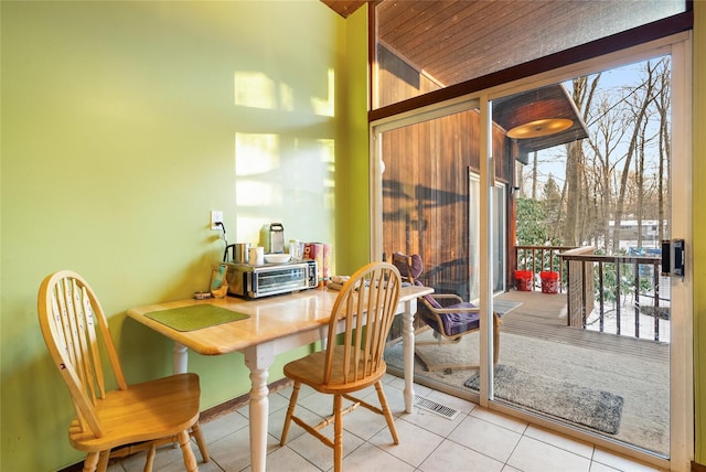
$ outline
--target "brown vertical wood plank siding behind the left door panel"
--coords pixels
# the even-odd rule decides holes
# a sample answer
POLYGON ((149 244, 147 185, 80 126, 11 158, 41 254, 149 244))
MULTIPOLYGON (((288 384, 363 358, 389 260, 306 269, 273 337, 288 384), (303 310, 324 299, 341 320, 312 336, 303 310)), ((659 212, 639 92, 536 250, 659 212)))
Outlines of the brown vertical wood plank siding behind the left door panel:
MULTIPOLYGON (((416 87, 435 86, 386 54, 384 73, 397 86, 386 87, 385 93, 402 96, 416 87)), ((464 298, 469 294, 468 179, 469 170, 479 173, 479 112, 469 110, 387 131, 382 139, 383 250, 419 254, 425 261, 422 283, 464 298)), ((513 147, 504 130, 494 126, 495 174, 504 183, 513 179, 513 147)))

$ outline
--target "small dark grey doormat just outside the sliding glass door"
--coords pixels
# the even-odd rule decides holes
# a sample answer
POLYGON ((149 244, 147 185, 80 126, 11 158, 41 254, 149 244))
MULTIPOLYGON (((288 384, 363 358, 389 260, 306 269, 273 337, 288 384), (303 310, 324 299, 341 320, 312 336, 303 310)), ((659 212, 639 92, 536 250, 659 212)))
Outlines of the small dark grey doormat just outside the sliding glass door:
MULTIPOLYGON (((479 390, 479 384, 475 373, 463 385, 479 390)), ((620 427, 623 398, 608 391, 499 364, 494 393, 496 398, 609 435, 620 427)))

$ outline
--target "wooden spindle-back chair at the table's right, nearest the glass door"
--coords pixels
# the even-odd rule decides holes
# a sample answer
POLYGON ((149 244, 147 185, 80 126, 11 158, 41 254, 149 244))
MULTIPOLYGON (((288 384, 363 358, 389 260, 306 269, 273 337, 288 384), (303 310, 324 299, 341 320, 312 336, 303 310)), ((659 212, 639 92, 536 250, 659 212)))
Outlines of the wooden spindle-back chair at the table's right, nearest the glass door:
POLYGON ((310 354, 285 366, 285 375, 295 382, 285 418, 281 446, 293 420, 307 432, 333 449, 334 470, 341 471, 343 461, 342 417, 359 406, 383 415, 395 444, 399 443, 382 378, 386 364, 383 361, 385 340, 399 301, 402 281, 399 271, 391 264, 373 262, 359 269, 345 282, 339 293, 331 319, 324 351, 310 354), (342 323, 343 333, 336 336, 336 326, 342 323), (317 426, 310 426, 295 416, 297 397, 301 384, 322 394, 333 395, 333 415, 317 426), (375 386, 382 408, 353 397, 352 393, 375 386), (343 398, 353 404, 343 409, 343 398), (333 422, 333 440, 319 430, 333 422))

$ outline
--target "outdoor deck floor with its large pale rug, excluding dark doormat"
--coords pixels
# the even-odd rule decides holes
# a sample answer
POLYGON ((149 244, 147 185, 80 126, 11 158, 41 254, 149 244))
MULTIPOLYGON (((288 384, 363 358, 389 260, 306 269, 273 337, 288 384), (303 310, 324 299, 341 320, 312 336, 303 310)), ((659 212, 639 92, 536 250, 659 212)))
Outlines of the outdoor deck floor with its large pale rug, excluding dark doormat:
MULTIPOLYGON (((568 326, 565 293, 512 290, 494 300, 520 303, 502 317, 499 364, 621 397, 619 430, 603 437, 668 454, 668 343, 568 326)), ((496 305, 501 309, 507 303, 498 302, 496 305)), ((432 339, 429 330, 419 330, 416 337, 419 341, 432 339)), ((427 358, 431 356, 441 364, 449 358, 461 364, 478 363, 480 334, 464 336, 460 344, 422 348, 427 358)), ((415 382, 472 399, 466 386, 472 369, 431 372, 415 357, 415 382)), ((392 373, 402 375, 402 342, 393 344, 385 360, 392 373)), ((547 418, 552 421, 550 416, 547 418)), ((579 430, 584 428, 579 423, 569 425, 579 430)), ((596 433, 590 428, 585 431, 596 433)))

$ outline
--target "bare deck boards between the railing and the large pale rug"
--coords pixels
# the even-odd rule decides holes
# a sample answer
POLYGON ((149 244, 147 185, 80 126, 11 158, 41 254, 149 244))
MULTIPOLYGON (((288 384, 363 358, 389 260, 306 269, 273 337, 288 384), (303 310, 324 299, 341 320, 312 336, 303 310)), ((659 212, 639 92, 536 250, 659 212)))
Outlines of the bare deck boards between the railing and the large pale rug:
POLYGON ((566 294, 509 291, 496 297, 522 303, 503 317, 501 332, 544 341, 633 355, 653 361, 670 360, 670 344, 631 336, 581 330, 567 325, 566 294))

